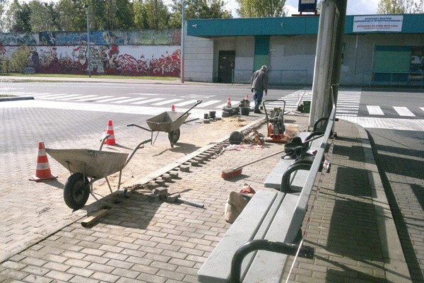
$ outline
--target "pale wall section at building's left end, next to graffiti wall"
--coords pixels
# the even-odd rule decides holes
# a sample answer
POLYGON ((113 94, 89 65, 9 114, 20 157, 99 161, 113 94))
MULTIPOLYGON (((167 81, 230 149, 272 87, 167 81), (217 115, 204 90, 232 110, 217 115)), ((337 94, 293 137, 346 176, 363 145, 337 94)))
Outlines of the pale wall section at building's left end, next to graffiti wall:
POLYGON ((184 36, 184 80, 213 81, 213 40, 184 36))

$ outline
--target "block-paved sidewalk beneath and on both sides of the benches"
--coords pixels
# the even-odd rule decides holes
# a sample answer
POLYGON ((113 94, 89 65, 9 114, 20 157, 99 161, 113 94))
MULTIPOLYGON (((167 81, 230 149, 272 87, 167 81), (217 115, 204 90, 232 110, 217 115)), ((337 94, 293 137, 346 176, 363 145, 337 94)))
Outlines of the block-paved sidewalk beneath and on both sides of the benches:
MULTIPOLYGON (((305 115, 287 119, 300 130, 307 127, 305 115)), ((411 282, 366 134, 343 120, 336 122, 335 131, 331 171, 324 176, 305 238, 315 248, 314 260, 296 259, 291 274, 283 278, 289 277, 288 282, 411 282)), ((169 192, 179 192, 204 208, 149 202, 151 190, 146 187, 134 187, 126 197, 115 192, 92 202, 84 215, 105 207, 109 213, 89 228, 81 225, 82 216, 71 219, 11 255, 0 264, 0 282, 197 282, 197 270, 230 227, 223 217, 228 193, 239 191, 245 183, 265 190, 266 175, 280 156, 247 166, 230 180, 221 179, 220 172, 281 146, 225 151, 216 159, 189 166, 189 172, 179 171, 178 178, 166 183, 169 192)), ((138 180, 143 183, 146 178, 138 180)))

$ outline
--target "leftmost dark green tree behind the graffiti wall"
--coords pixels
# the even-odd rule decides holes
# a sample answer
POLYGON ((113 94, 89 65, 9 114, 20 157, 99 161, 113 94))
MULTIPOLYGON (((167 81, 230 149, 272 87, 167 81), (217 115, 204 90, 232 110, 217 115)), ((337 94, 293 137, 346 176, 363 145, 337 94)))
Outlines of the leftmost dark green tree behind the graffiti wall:
POLYGON ((18 0, 13 0, 4 18, 5 29, 18 33, 30 32, 30 15, 31 9, 28 4, 20 4, 18 0))

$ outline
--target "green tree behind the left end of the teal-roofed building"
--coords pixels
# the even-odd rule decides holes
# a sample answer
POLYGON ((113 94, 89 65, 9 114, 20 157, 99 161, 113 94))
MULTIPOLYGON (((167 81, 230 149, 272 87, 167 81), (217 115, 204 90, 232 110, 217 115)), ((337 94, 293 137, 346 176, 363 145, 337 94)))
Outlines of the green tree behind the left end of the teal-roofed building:
MULTIPOLYGON (((194 18, 232 18, 231 12, 225 10, 223 0, 187 0, 184 10, 185 20, 194 18)), ((182 21, 182 0, 172 0, 172 15, 170 27, 181 27, 182 21)))

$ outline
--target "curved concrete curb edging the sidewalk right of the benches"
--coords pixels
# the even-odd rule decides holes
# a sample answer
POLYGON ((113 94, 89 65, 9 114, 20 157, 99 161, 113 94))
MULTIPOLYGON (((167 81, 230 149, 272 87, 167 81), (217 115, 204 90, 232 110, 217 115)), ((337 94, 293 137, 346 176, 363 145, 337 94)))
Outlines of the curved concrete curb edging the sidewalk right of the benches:
POLYGON ((374 154, 372 153, 370 139, 368 139, 368 134, 363 127, 355 123, 352 124, 358 128, 361 143, 363 145, 365 168, 372 189, 372 202, 375 205, 375 214, 380 241, 382 243, 384 270, 386 271, 387 282, 412 282, 402 250, 401 241, 396 231, 396 225, 391 215, 389 201, 384 192, 382 180, 379 175, 377 164, 375 163, 374 154))

